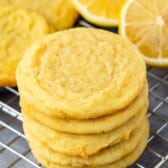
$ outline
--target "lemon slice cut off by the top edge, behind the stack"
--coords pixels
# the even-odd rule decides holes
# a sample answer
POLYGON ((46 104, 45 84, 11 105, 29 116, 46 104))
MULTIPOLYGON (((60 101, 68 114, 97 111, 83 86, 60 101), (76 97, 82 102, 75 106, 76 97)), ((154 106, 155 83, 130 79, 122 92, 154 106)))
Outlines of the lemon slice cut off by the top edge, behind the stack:
POLYGON ((117 26, 125 0, 71 0, 78 12, 99 26, 117 26))

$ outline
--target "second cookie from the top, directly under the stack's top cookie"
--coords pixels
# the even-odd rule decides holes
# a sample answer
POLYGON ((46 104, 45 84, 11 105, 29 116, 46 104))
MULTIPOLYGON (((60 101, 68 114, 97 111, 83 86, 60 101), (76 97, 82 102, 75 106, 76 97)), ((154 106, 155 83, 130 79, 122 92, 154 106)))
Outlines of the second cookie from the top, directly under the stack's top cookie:
POLYGON ((141 90, 141 93, 139 93, 135 100, 133 100, 133 102, 126 108, 119 110, 112 115, 89 120, 61 119, 45 115, 22 98, 20 102, 22 112, 25 115, 30 116, 32 119, 56 131, 75 134, 97 134, 111 131, 135 116, 146 103, 148 103, 147 82, 141 90))

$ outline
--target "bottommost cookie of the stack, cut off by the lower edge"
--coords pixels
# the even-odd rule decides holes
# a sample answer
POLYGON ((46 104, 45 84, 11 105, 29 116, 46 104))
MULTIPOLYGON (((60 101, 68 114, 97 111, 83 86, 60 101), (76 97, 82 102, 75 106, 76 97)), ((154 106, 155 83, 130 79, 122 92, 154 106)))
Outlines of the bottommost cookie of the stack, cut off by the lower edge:
POLYGON ((49 157, 49 155, 46 153, 46 151, 40 152, 40 150, 37 149, 38 147, 34 146, 34 144, 30 144, 30 146, 32 147, 33 153, 34 153, 35 157, 37 158, 37 160, 39 160, 44 166, 46 166, 46 168, 74 168, 74 167, 122 168, 122 167, 127 167, 130 164, 132 164, 133 162, 135 162, 138 159, 138 157, 141 155, 141 153, 143 152, 143 150, 147 144, 147 138, 148 138, 148 134, 149 134, 149 125, 148 125, 147 119, 145 120, 145 129, 144 128, 142 128, 142 129, 143 129, 143 134, 141 136, 140 142, 138 143, 138 145, 136 146, 136 148, 133 151, 131 151, 130 153, 128 153, 126 155, 123 155, 123 157, 121 159, 119 159, 115 162, 112 162, 109 164, 103 164, 101 166, 96 166, 96 165, 87 166, 87 165, 74 164, 72 161, 73 159, 72 160, 70 159, 72 161, 71 165, 65 164, 65 159, 68 157, 71 158, 71 156, 64 157, 65 155, 60 155, 59 153, 58 153, 59 162, 57 162, 58 158, 56 159, 57 156, 54 151, 52 151, 52 150, 50 151, 50 156, 53 155, 54 157, 49 157), (61 165, 61 160, 64 162, 64 165, 61 165))

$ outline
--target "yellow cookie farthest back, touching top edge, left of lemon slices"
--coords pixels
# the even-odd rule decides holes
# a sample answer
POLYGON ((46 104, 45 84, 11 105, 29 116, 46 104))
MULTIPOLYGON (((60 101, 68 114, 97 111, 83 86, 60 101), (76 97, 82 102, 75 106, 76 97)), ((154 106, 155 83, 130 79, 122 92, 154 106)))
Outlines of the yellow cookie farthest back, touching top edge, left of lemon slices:
POLYGON ((55 30, 73 26, 78 12, 70 0, 0 0, 0 4, 12 4, 39 12, 55 30))

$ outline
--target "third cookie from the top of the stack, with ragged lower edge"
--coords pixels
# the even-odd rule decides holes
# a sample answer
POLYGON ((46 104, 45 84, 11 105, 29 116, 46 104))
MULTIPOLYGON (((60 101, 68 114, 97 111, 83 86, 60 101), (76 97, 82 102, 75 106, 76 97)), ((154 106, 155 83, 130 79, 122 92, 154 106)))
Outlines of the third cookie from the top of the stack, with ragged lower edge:
POLYGON ((141 125, 147 108, 147 104, 141 107, 141 110, 138 111, 135 117, 117 129, 102 134, 86 135, 58 132, 45 127, 41 123, 23 114, 24 132, 26 135, 30 132, 34 137, 37 136, 38 132, 39 138, 37 139, 40 139, 46 146, 53 148, 57 152, 87 158, 108 146, 112 146, 122 140, 128 140, 130 134, 141 125), (45 134, 47 134, 47 136, 43 136, 45 134))

